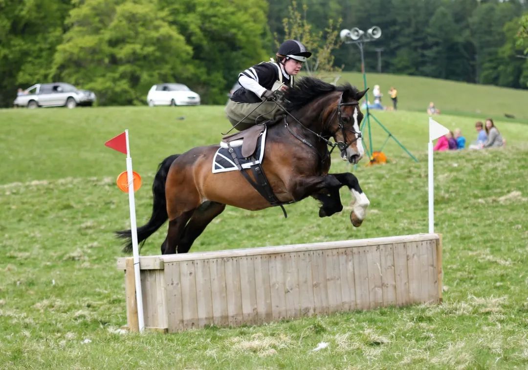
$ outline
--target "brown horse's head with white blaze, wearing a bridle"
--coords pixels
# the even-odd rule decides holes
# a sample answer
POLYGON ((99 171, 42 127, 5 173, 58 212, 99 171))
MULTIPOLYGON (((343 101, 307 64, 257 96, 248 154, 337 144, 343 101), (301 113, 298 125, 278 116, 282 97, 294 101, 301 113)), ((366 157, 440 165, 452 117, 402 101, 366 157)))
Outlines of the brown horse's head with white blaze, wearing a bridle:
POLYGON ((357 163, 365 154, 360 131, 363 113, 359 101, 368 89, 357 91, 350 85, 345 85, 343 89, 335 106, 332 104, 334 112, 328 122, 328 130, 337 143, 341 158, 350 163, 357 163))

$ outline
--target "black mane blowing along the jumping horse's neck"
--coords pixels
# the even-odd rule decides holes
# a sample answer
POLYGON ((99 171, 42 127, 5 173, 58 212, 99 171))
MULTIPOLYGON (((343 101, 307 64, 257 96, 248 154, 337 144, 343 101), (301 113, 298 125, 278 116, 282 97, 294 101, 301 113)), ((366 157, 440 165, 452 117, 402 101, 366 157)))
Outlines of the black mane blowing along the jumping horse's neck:
POLYGON ((286 91, 284 96, 286 101, 285 108, 288 111, 296 111, 321 95, 333 91, 346 90, 349 90, 349 93, 351 93, 352 96, 356 96, 359 92, 359 90, 350 83, 346 83, 342 86, 334 86, 327 82, 315 79, 314 77, 303 77, 295 83, 294 87, 286 91))

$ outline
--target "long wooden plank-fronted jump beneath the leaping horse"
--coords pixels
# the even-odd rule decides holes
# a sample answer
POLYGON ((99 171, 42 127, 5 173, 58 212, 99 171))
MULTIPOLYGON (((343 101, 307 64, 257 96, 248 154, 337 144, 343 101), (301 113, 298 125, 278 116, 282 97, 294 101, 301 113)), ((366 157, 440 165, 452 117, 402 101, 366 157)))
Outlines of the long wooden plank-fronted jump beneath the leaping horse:
MULTIPOLYGON (((138 330, 133 258, 117 266, 138 330)), ((139 266, 145 327, 169 333, 442 300, 438 234, 143 256, 139 266)))

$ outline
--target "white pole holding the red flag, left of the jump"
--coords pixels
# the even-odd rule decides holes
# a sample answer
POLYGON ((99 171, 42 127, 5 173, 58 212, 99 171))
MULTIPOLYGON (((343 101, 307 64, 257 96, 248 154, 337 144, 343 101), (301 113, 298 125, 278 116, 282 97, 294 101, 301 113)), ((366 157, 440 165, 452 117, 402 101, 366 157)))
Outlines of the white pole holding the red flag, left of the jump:
POLYGON ((136 202, 134 200, 134 176, 132 174, 132 158, 130 157, 130 145, 128 143, 128 130, 125 130, 127 141, 127 179, 128 179, 128 205, 130 208, 130 232, 132 236, 132 250, 134 255, 134 276, 136 278, 136 301, 137 301, 137 321, 139 332, 145 330, 145 320, 143 317, 143 295, 141 290, 141 276, 139 270, 139 248, 137 245, 136 226, 136 202))

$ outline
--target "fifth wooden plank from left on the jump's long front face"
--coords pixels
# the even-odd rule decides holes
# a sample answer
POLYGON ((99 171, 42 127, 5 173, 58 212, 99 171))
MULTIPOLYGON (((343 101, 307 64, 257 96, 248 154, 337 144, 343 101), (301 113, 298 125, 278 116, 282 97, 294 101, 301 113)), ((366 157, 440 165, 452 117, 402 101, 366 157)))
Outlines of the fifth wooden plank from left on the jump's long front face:
POLYGON ((229 325, 238 326, 242 324, 242 293, 239 259, 235 257, 224 258, 224 268, 229 325))

